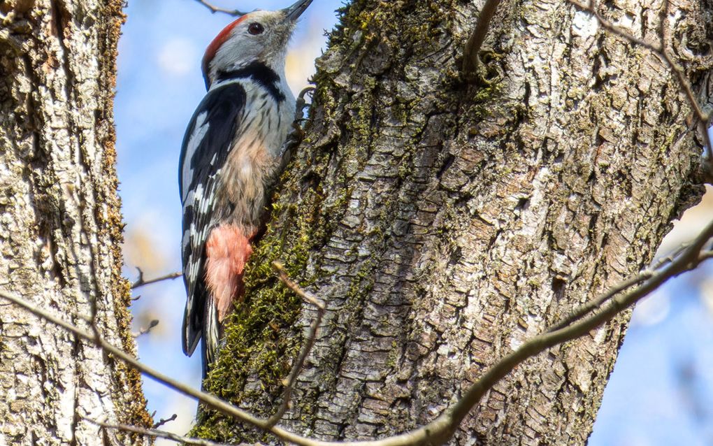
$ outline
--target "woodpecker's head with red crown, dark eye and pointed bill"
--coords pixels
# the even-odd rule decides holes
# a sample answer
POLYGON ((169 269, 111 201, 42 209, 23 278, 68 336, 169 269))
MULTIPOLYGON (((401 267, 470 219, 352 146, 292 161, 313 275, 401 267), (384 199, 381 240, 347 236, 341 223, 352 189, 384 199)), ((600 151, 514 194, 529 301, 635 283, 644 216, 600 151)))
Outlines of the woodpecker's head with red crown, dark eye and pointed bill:
POLYGON ((220 72, 241 69, 255 62, 282 73, 289 38, 297 19, 311 3, 312 0, 297 0, 278 11, 253 11, 225 26, 203 55, 206 88, 210 88, 220 72))

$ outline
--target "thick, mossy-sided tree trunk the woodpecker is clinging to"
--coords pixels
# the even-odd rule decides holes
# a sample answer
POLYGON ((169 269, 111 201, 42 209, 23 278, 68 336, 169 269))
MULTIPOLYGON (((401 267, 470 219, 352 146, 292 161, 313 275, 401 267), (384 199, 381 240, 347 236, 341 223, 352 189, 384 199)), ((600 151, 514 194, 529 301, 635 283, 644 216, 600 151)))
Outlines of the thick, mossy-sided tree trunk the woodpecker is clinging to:
MULTIPOLYGON (((566 1, 505 1, 480 83, 466 81, 461 49, 482 5, 347 6, 209 390, 275 410, 314 316, 271 277, 281 260, 328 308, 282 423, 336 440, 424 425, 489 365, 647 265, 699 200, 700 139, 659 57, 566 1)), ((653 42, 661 7, 600 6, 653 42)), ((667 15, 667 44, 707 104, 710 13, 710 1, 677 1, 667 15)), ((453 444, 583 445, 629 315, 520 365, 453 444)), ((193 433, 256 438, 213 412, 193 433)))

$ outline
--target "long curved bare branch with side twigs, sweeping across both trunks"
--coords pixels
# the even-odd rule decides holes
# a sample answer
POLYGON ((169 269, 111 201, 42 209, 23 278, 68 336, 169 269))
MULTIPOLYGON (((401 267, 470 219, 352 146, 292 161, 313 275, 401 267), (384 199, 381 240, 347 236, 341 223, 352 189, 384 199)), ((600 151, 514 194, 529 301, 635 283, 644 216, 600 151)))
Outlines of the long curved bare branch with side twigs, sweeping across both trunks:
MULTIPOLYGON (((299 358, 297 358, 297 361, 292 368, 292 372, 286 380, 282 405, 279 407, 275 415, 269 419, 256 417, 250 412, 242 410, 218 397, 215 397, 215 395, 195 390, 182 382, 178 382, 171 377, 163 375, 157 370, 149 368, 148 365, 140 363, 138 360, 133 358, 133 356, 128 355, 128 353, 125 353, 123 350, 116 348, 114 345, 111 345, 104 340, 96 328, 93 329, 91 333, 87 332, 71 323, 66 322, 65 320, 62 320, 61 318, 57 318, 55 315, 52 315, 46 310, 37 308, 35 305, 29 303, 23 298, 19 298, 18 296, 10 293, 0 291, 0 297, 25 308, 30 313, 38 315, 40 318, 65 328, 80 338, 88 340, 98 348, 101 348, 107 353, 111 353, 111 355, 114 355, 124 363, 127 363, 136 370, 152 377, 154 380, 163 383, 167 387, 183 393, 184 395, 188 395, 189 397, 193 397, 195 400, 202 402, 202 404, 207 407, 217 410, 227 416, 233 417, 235 420, 245 422, 246 424, 257 427, 265 432, 270 432, 285 442, 291 442, 300 446, 442 445, 451 438, 453 432, 456 431, 463 418, 466 417, 468 412, 470 412, 473 407, 478 404, 483 395, 485 395, 486 392, 496 384, 496 382, 501 380, 518 365, 523 363, 523 361, 542 353, 548 348, 553 348, 556 345, 565 343, 568 340, 573 340, 586 335, 599 325, 607 323, 625 308, 630 307, 638 300, 644 298, 646 295, 649 295, 653 290, 656 290, 670 278, 686 271, 693 270, 704 260, 713 258, 713 249, 710 246, 711 240, 713 240, 713 222, 709 223, 709 225, 704 228, 702 233, 700 233, 697 238, 692 240, 692 242, 684 245, 682 248, 679 248, 672 255, 670 255, 670 257, 661 260, 653 267, 653 270, 646 270, 635 275, 633 278, 616 285, 611 290, 608 290, 606 293, 603 293, 600 297, 593 300, 592 303, 588 303, 573 312, 573 314, 568 316, 568 318, 565 318, 563 322, 553 325, 553 327, 549 330, 545 330, 544 333, 528 340, 521 345, 520 348, 506 355, 504 358, 499 360, 498 363, 486 370, 486 372, 468 389, 460 400, 451 405, 451 407, 448 407, 448 409, 443 411, 443 413, 436 417, 435 420, 429 422, 429 424, 410 432, 405 432, 401 435, 394 435, 393 437, 384 438, 382 440, 353 442, 313 440, 297 435, 294 432, 290 432, 289 430, 286 430, 276 424, 282 418, 282 415, 284 415, 287 407, 289 407, 289 397, 294 388, 294 382, 297 380, 297 374, 304 365, 304 360, 307 358, 307 355, 309 355, 310 350, 312 350, 312 345, 314 345, 314 340, 317 336, 317 327, 319 326, 318 321, 321 321, 322 315, 324 314, 324 303, 322 303, 321 300, 314 298, 314 295, 305 292, 302 288, 299 288, 299 285, 292 282, 292 280, 289 280, 289 278, 287 278, 287 274, 284 272, 284 267, 282 267, 279 263, 273 264, 273 268, 277 271, 280 280, 282 280, 284 285, 293 290, 294 293, 297 293, 302 299, 317 308, 317 321, 312 323, 310 326, 307 343, 302 348, 302 352, 300 353, 299 358)), ((129 432, 137 432, 153 437, 163 437, 168 440, 185 442, 190 445, 217 445, 217 443, 207 442, 200 439, 179 437, 171 434, 170 432, 163 432, 155 429, 147 430, 135 426, 108 425, 100 422, 96 422, 96 424, 107 428, 127 430, 129 432)))

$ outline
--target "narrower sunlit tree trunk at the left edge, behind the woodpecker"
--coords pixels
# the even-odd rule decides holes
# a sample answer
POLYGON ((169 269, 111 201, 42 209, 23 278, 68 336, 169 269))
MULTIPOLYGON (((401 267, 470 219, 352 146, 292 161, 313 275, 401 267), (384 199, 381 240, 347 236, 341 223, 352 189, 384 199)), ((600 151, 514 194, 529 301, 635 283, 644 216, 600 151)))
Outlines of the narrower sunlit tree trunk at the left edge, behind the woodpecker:
MULTIPOLYGON (((0 289, 135 354, 121 278, 113 92, 119 0, 0 3, 0 289)), ((140 375, 0 299, 0 445, 135 444, 140 375)))

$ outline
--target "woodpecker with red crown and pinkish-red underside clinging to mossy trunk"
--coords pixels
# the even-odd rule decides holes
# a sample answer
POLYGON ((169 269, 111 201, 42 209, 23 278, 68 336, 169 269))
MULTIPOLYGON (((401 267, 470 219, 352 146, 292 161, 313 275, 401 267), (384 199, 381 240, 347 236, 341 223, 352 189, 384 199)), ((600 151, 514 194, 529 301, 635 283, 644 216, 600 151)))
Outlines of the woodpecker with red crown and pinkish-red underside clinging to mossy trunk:
POLYGON ((183 353, 200 338, 203 373, 222 322, 244 293, 242 275, 282 169, 295 99, 284 76, 287 43, 312 0, 253 11, 225 27, 202 60, 207 93, 188 123, 178 183, 183 203, 183 353))

